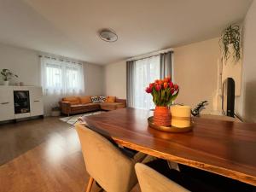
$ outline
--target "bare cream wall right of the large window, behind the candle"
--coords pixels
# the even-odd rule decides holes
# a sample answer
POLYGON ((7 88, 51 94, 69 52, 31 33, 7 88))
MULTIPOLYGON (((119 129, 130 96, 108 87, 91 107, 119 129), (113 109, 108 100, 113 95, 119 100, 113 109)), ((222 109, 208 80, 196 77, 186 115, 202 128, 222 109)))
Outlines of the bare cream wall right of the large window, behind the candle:
POLYGON ((174 49, 174 81, 180 86, 176 102, 194 108, 207 100, 209 105, 203 113, 212 113, 219 55, 218 38, 174 49))

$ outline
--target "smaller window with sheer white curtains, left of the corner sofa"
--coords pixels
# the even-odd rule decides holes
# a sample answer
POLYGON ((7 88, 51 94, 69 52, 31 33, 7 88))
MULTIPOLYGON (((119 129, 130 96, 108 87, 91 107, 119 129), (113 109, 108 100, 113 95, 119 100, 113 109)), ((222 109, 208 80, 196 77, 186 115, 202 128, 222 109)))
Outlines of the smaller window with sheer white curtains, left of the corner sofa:
POLYGON ((44 95, 74 95, 84 92, 82 64, 41 57, 44 95))

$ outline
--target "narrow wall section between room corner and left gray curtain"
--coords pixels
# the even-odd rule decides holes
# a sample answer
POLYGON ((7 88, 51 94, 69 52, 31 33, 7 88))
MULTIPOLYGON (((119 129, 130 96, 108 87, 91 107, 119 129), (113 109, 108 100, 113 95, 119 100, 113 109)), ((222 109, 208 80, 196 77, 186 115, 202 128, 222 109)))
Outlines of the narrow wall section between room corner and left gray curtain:
POLYGON ((105 95, 126 98, 126 62, 119 61, 105 66, 105 95))

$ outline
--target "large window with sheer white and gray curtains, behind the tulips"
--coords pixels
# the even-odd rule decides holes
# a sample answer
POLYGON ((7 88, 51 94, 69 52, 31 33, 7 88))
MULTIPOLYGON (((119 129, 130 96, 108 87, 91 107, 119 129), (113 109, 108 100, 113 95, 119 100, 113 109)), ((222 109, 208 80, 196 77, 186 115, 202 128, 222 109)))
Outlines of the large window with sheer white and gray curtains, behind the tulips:
POLYGON ((154 53, 154 56, 126 61, 126 98, 129 108, 154 108, 152 96, 145 89, 155 79, 172 78, 172 53, 172 50, 166 49, 154 53))

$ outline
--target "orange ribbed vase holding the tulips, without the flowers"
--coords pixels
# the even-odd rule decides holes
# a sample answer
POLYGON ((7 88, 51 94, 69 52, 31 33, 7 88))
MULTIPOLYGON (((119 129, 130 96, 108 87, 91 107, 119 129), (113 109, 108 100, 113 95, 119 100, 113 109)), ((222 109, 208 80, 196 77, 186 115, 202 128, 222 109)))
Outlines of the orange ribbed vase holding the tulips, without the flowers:
POLYGON ((154 125, 168 126, 171 123, 171 113, 168 107, 156 106, 154 110, 154 125))

